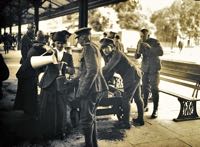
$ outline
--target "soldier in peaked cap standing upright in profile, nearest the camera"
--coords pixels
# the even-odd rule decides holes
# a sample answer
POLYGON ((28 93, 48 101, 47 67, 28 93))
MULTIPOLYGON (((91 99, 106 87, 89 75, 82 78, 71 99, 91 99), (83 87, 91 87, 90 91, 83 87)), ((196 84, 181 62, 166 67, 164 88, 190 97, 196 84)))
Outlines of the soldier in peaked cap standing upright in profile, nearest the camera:
POLYGON ((80 125, 85 136, 85 145, 97 147, 96 107, 108 87, 102 74, 101 54, 89 39, 90 30, 84 27, 75 32, 78 43, 83 48, 76 99, 80 102, 80 125))

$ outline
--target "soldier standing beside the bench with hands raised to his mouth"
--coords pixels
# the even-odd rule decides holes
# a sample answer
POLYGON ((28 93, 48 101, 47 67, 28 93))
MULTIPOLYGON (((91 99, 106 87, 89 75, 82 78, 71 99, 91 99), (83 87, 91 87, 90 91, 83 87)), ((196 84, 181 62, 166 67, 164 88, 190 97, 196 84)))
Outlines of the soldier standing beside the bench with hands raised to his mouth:
POLYGON ((153 113, 151 118, 157 117, 160 81, 159 70, 161 63, 159 56, 163 55, 163 49, 158 40, 149 37, 149 31, 142 29, 140 31, 141 39, 138 42, 135 58, 138 59, 142 55, 141 69, 143 71, 142 87, 144 92, 144 107, 148 111, 148 97, 151 90, 153 97, 153 113))

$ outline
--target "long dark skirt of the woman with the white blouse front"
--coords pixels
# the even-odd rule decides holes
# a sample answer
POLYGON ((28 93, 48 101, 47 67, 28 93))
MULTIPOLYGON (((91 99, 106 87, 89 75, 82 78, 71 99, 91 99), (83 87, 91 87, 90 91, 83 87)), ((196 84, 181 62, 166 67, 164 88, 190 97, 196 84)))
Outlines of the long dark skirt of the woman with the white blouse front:
POLYGON ((55 138, 65 132, 66 104, 64 99, 65 94, 56 90, 55 82, 49 87, 41 89, 40 131, 46 138, 55 138))

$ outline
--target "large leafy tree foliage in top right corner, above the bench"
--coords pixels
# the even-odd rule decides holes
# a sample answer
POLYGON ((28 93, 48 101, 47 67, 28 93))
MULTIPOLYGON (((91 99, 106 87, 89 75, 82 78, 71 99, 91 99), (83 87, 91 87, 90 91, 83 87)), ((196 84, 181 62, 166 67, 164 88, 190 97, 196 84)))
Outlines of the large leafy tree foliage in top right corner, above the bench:
POLYGON ((171 7, 155 12, 151 22, 156 25, 161 41, 176 41, 178 36, 200 37, 200 3, 176 0, 171 7))

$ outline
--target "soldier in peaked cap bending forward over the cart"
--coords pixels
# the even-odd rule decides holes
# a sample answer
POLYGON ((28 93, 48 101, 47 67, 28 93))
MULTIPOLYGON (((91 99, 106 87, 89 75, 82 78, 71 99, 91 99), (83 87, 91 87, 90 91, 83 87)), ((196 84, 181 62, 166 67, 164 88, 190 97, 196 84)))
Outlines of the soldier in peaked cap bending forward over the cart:
POLYGON ((143 119, 143 101, 141 99, 140 90, 140 70, 129 61, 124 53, 118 51, 113 40, 104 38, 100 41, 101 50, 104 55, 109 58, 106 65, 103 67, 103 74, 108 81, 114 73, 118 73, 123 79, 124 95, 122 98, 123 118, 122 121, 116 124, 117 127, 130 129, 130 103, 134 98, 137 105, 138 117, 133 119, 133 125, 144 125, 143 119))

